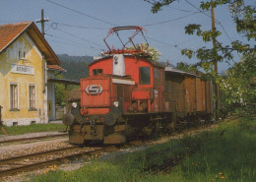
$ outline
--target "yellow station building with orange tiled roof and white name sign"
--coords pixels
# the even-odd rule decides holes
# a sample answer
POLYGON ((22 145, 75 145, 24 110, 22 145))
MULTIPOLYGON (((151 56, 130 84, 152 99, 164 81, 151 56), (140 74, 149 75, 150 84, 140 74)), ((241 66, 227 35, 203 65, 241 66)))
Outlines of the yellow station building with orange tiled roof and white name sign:
POLYGON ((32 22, 0 26, 0 106, 6 126, 48 123, 55 117, 60 60, 32 22))

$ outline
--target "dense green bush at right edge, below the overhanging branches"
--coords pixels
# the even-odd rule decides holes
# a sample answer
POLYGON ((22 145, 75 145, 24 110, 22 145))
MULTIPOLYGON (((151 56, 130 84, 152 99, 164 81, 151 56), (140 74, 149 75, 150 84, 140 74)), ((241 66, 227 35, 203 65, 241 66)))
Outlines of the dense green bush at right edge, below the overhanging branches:
POLYGON ((255 114, 256 106, 256 55, 244 54, 240 62, 228 69, 218 82, 223 92, 224 112, 255 114), (243 112, 246 111, 246 112, 243 112))

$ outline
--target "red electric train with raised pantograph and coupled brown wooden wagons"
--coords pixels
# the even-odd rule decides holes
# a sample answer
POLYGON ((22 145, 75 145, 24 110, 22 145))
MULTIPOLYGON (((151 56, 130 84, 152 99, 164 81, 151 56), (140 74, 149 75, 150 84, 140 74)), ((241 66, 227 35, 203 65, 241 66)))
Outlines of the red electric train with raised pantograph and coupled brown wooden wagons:
POLYGON ((81 79, 81 99, 71 104, 63 123, 70 126, 69 142, 125 143, 127 137, 173 130, 178 121, 212 115, 212 84, 194 74, 164 67, 139 49, 133 37, 140 27, 119 27, 104 39, 109 51, 89 66, 81 79), (113 49, 105 39, 120 30, 135 30, 128 42, 133 50, 113 49))

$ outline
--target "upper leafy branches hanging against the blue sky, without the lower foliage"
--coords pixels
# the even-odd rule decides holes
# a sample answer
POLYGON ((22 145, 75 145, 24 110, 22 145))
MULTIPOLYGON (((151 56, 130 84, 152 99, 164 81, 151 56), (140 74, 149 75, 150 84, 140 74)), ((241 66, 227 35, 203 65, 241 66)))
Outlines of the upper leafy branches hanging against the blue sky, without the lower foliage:
MULTIPOLYGON (((147 0, 149 1, 149 0, 147 0)), ((161 7, 169 5, 174 2, 174 0, 152 0, 150 1, 153 5, 152 12, 158 13, 161 10, 161 7)), ((238 33, 247 37, 248 40, 256 38, 256 8, 255 6, 245 5, 244 0, 212 0, 210 2, 201 2, 202 10, 209 10, 211 7, 216 8, 227 4, 232 16, 234 23, 236 24, 236 30, 238 33)), ((219 35, 222 34, 220 30, 201 30, 201 25, 190 24, 185 27, 185 33, 187 34, 196 34, 201 36, 204 41, 212 41, 213 38, 217 39, 219 35)), ((217 42, 217 46, 214 48, 202 47, 196 51, 193 51, 189 48, 183 49, 181 53, 183 55, 191 58, 195 55, 200 62, 198 65, 201 67, 209 67, 210 65, 205 65, 204 63, 213 63, 216 60, 218 61, 228 61, 233 58, 232 52, 238 53, 249 53, 255 54, 256 45, 250 45, 248 43, 243 43, 241 41, 235 40, 232 41, 230 45, 224 45, 222 42, 217 42)), ((208 68, 209 69, 209 68, 208 68)))

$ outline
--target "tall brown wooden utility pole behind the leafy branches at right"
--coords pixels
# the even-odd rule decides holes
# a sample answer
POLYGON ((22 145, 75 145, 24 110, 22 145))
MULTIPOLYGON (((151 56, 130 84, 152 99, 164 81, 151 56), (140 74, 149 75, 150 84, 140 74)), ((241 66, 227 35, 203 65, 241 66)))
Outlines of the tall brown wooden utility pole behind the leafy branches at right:
MULTIPOLYGON (((215 9, 212 6, 211 7, 211 13, 212 13, 212 30, 216 30, 215 27, 215 9)), ((213 46, 216 48, 216 38, 213 38, 213 46)), ((218 60, 215 60, 215 72, 218 75, 218 60)), ((215 96, 216 96, 216 101, 215 101, 215 121, 219 121, 219 113, 220 113, 220 96, 219 96, 219 85, 215 83, 215 96)))

